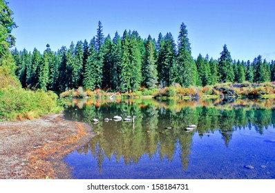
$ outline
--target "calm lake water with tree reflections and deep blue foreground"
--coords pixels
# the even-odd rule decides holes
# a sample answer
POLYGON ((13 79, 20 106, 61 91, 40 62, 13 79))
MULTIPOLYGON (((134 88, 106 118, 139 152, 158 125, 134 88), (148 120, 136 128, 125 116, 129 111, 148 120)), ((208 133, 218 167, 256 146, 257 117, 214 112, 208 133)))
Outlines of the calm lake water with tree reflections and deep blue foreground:
POLYGON ((69 105, 66 119, 99 132, 65 158, 76 179, 275 179, 274 99, 74 99, 69 105), (137 118, 104 122, 115 115, 137 118), (198 128, 183 130, 191 124, 198 128))

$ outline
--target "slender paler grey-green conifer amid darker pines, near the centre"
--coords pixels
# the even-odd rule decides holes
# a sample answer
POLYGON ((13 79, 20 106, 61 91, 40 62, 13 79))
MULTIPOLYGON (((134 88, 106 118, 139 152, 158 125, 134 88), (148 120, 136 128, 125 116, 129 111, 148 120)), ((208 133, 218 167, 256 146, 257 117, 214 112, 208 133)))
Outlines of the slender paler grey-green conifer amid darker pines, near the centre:
POLYGON ((155 59, 155 45, 153 39, 149 35, 146 41, 146 63, 143 71, 144 85, 146 88, 155 88, 158 83, 158 71, 155 59))

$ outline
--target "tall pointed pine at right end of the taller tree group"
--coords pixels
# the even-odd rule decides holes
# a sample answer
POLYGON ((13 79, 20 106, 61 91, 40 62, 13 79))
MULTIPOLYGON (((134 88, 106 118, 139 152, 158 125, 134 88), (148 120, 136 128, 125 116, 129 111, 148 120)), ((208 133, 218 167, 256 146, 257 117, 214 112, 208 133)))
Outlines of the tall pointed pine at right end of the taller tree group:
POLYGON ((178 57, 177 57, 177 82, 188 87, 195 85, 198 81, 198 72, 196 63, 191 57, 191 47, 187 37, 187 26, 184 23, 180 26, 178 36, 178 57))

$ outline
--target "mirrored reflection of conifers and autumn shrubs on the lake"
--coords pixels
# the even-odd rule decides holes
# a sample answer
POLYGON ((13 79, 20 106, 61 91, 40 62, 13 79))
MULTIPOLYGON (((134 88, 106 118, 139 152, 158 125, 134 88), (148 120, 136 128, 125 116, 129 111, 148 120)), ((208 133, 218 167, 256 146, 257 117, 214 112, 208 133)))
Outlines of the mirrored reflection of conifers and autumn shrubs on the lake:
MULTIPOLYGON (((194 134, 198 134, 202 139, 220 133, 225 148, 229 146, 234 132, 255 130, 258 134, 264 134, 267 128, 274 128, 274 103, 274 99, 239 99, 231 103, 225 103, 221 99, 73 99, 69 102, 65 117, 74 121, 85 121, 91 125, 93 119, 99 119, 99 123, 93 125, 94 132, 99 132, 99 135, 77 150, 78 154, 93 156, 99 176, 106 159, 116 163, 123 160, 127 166, 143 162, 145 156, 149 156, 151 160, 146 162, 149 167, 154 160, 159 159, 166 163, 176 160, 180 161, 182 171, 187 171, 194 134), (135 115, 137 118, 134 123, 104 122, 105 118, 115 115, 123 118, 135 115), (198 125, 198 128, 186 132, 184 128, 190 124, 198 125), (167 127, 172 129, 165 129, 167 127), (158 159, 156 156, 159 156, 158 159)), ((170 167, 173 168, 173 165, 170 167)), ((148 173, 144 170, 142 172, 148 173)))

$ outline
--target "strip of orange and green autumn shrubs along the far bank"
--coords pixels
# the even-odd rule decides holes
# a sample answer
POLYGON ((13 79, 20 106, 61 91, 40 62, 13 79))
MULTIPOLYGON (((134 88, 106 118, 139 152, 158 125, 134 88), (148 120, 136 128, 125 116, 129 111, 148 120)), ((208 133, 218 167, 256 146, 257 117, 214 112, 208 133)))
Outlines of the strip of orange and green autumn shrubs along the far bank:
MULTIPOLYGON (((274 83, 216 83, 215 85, 207 85, 205 87, 190 86, 182 88, 180 84, 174 84, 170 87, 162 89, 140 88, 135 92, 115 92, 115 90, 84 90, 78 89, 61 92, 61 98, 115 98, 121 99, 125 97, 146 97, 158 99, 198 99, 198 98, 222 98, 226 97, 229 91, 236 93, 233 97, 240 98, 273 98, 275 96, 274 83), (222 89, 222 90, 221 90, 222 89)), ((234 94, 231 94, 232 96, 234 94)))

